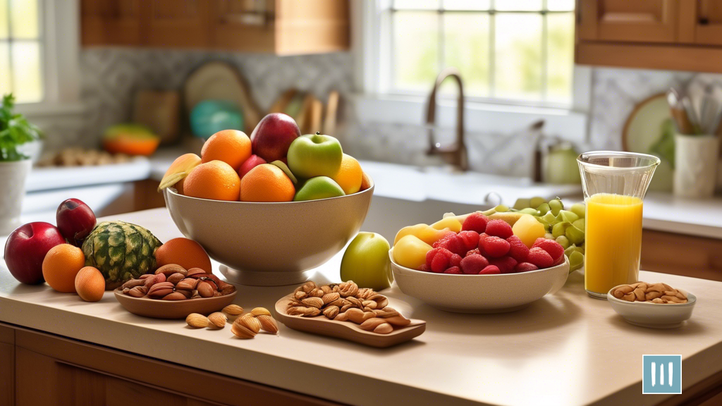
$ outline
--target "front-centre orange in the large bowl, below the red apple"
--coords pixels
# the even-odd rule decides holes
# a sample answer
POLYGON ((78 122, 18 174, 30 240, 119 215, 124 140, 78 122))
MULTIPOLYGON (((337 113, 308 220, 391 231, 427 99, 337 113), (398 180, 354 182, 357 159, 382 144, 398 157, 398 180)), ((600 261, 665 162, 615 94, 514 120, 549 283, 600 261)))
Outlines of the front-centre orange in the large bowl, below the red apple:
POLYGON ((242 202, 290 202, 295 194, 291 179, 270 163, 256 166, 240 180, 242 202))

